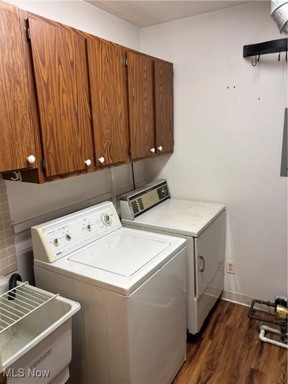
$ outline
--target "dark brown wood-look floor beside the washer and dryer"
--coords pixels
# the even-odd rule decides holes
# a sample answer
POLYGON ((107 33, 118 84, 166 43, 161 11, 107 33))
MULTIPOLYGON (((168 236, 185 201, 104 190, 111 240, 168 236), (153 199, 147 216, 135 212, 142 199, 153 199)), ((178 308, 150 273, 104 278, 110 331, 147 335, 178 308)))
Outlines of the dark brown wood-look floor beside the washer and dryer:
POLYGON ((201 331, 189 335, 173 384, 287 383, 287 349, 260 341, 262 324, 248 318, 246 307, 218 300, 201 331))

